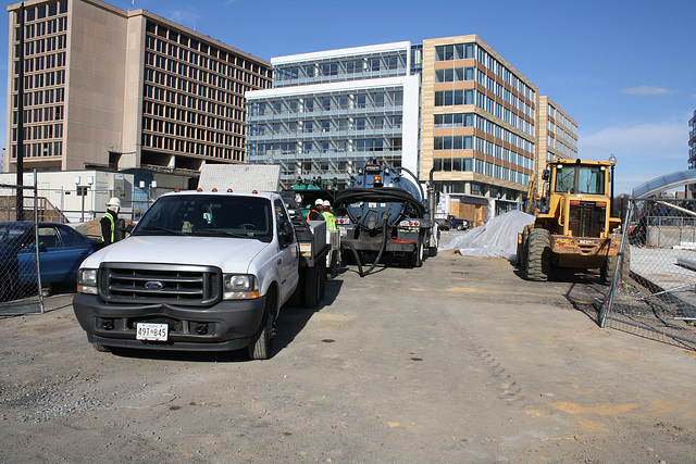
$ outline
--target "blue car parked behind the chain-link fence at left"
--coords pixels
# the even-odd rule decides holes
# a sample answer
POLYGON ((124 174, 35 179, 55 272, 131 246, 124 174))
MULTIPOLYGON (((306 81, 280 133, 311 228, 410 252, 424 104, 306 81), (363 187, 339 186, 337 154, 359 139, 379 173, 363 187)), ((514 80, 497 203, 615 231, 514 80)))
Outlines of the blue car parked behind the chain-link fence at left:
MULTIPOLYGON (((41 286, 75 285, 77 268, 99 248, 89 238, 65 224, 39 223, 39 266, 41 286)), ((22 287, 36 285, 34 223, 0 223, 0 301, 17 296, 22 287)))

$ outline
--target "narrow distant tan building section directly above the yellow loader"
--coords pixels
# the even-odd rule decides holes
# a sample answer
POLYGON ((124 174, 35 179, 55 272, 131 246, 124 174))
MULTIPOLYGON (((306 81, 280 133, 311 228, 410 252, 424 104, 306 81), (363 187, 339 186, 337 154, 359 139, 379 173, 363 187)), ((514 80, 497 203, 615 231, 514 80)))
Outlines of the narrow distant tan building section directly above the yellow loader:
POLYGON ((539 97, 536 139, 536 191, 542 195, 542 172, 546 168, 546 162, 577 158, 577 123, 546 96, 539 97))

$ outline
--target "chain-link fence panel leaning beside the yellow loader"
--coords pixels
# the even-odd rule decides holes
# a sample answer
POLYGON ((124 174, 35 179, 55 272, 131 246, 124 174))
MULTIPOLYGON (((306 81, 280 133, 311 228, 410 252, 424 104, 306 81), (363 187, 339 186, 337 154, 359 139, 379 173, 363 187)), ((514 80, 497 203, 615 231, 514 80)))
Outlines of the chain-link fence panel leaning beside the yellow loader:
POLYGON ((696 349, 696 200, 631 200, 601 327, 696 349))

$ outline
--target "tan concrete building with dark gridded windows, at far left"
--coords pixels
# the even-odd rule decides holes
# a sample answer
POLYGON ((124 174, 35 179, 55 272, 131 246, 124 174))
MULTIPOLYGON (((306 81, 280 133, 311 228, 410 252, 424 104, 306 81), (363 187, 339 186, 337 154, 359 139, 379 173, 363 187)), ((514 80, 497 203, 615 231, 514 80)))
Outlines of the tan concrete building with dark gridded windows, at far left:
MULTIPOLYGON (((144 10, 24 7, 24 170, 244 161, 244 95, 270 87, 270 63, 144 10)), ((8 7, 5 172, 16 171, 20 8, 8 7)))

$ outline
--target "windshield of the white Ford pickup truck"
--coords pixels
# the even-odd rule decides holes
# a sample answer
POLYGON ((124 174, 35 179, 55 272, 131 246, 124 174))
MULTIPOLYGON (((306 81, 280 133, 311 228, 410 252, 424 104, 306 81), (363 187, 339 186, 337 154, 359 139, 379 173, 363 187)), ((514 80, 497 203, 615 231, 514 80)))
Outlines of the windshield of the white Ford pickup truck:
POLYGON ((272 239, 271 202, 260 197, 174 195, 160 198, 133 235, 183 235, 272 239))

